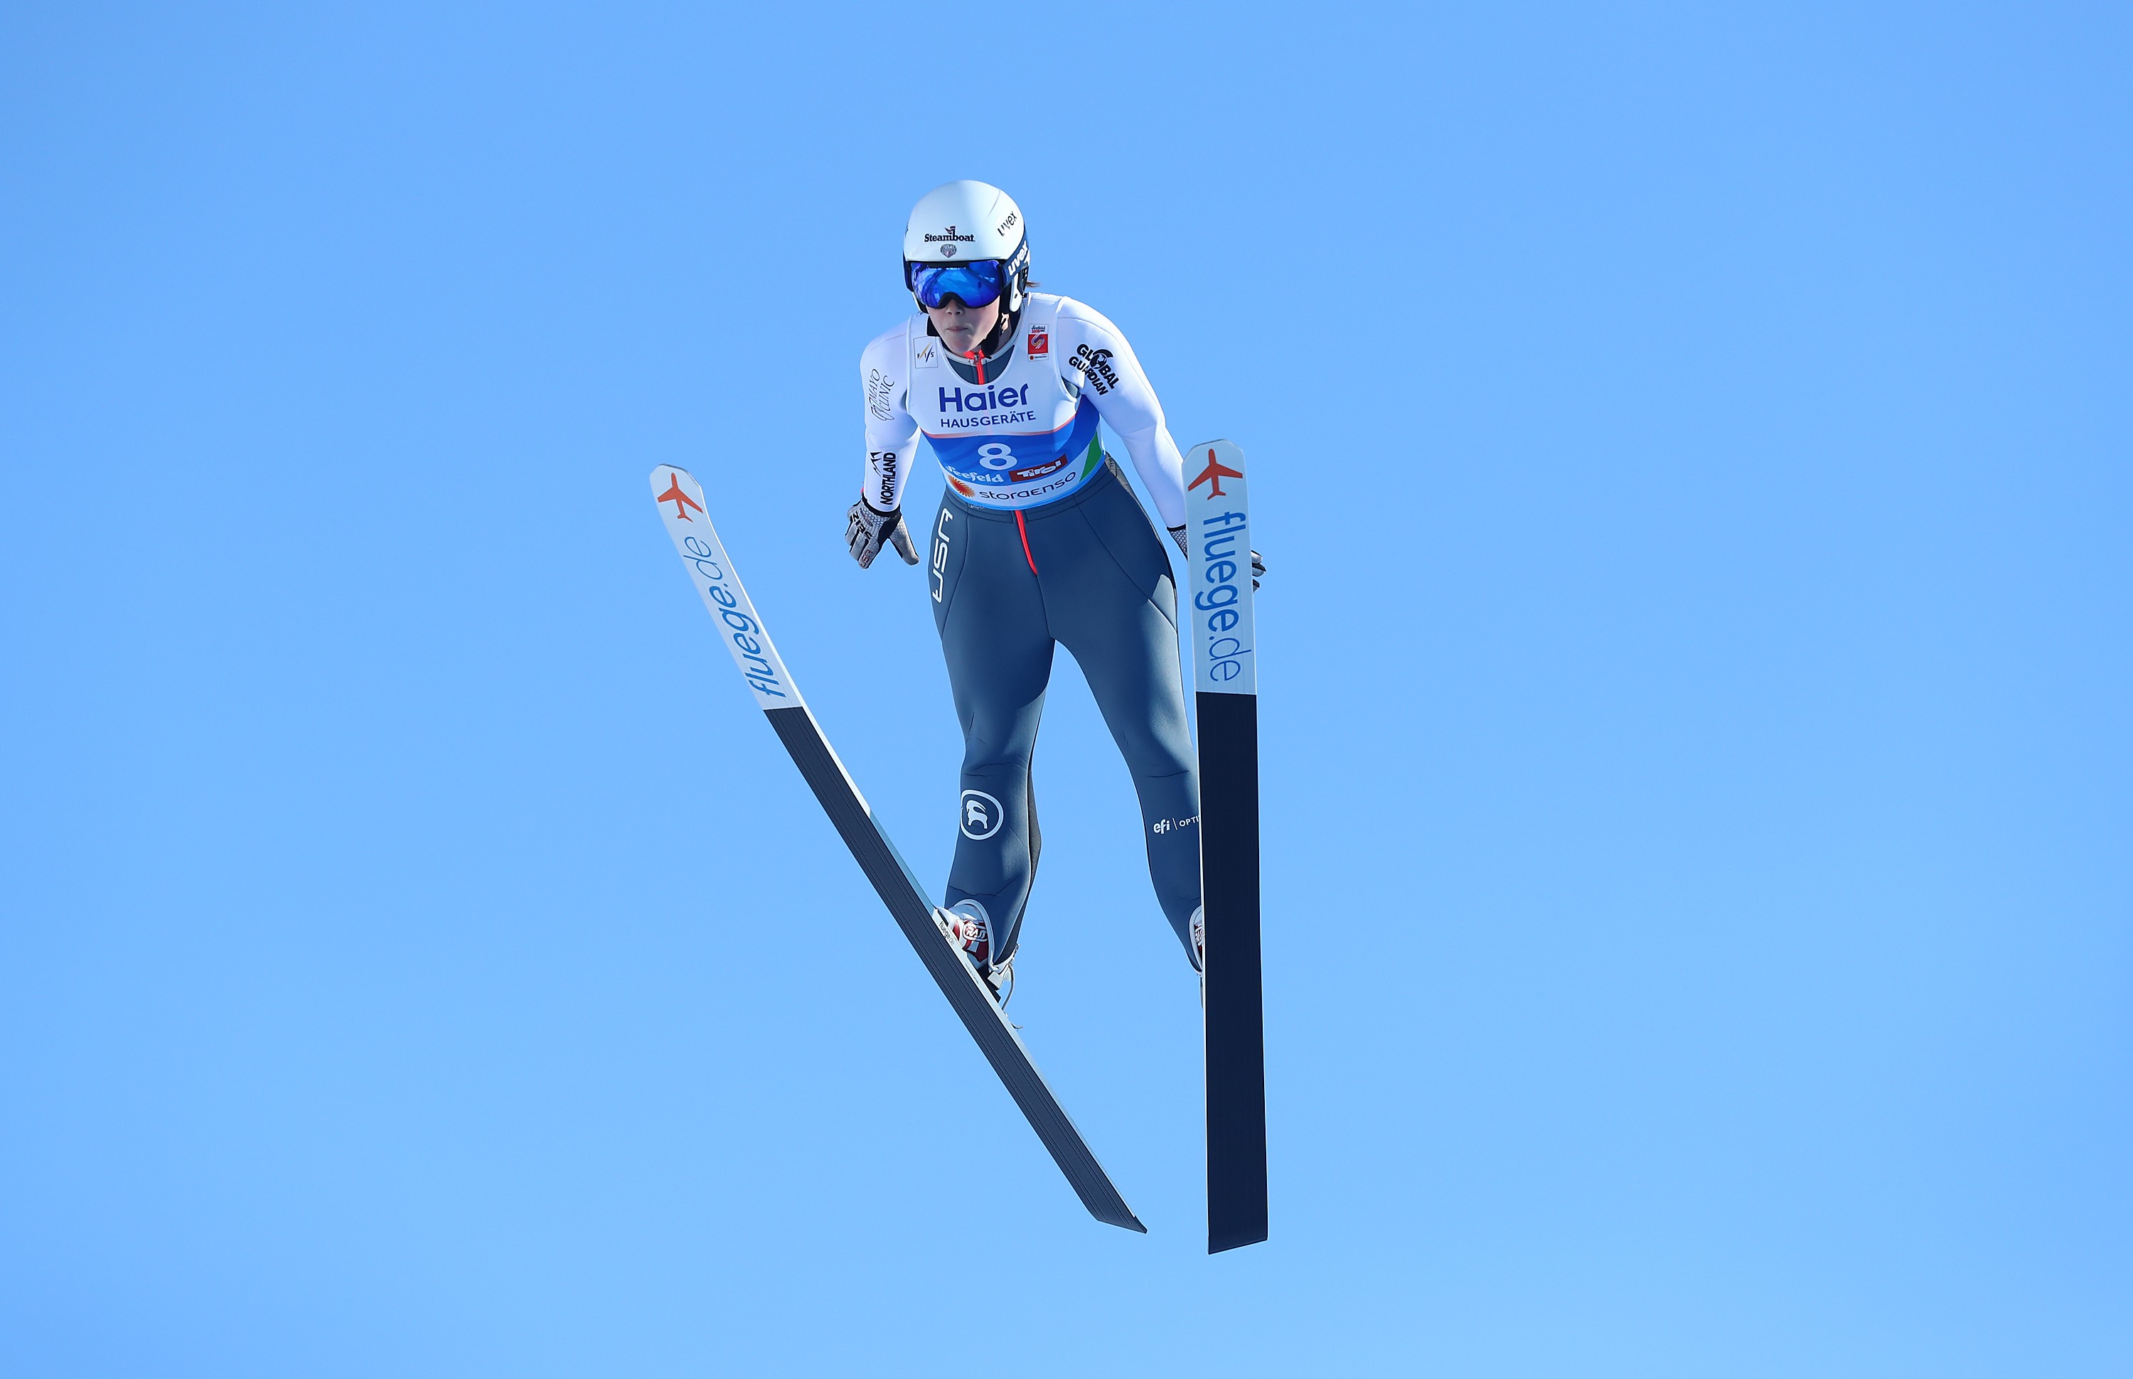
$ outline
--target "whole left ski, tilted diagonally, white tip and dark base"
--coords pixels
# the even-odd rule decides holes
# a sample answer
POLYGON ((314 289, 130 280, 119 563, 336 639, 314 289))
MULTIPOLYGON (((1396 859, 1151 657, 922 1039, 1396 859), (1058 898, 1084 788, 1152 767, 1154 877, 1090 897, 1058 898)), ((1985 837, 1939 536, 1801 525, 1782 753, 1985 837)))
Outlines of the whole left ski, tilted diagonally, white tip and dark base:
POLYGON ((779 742, 785 744, 800 776, 815 791, 815 799, 821 801, 830 823, 851 848, 866 880, 875 885, 881 904, 889 908, 896 927, 911 940, 911 948, 919 955, 934 985, 941 987, 941 995, 953 1006, 962 1027, 977 1040, 985 1061, 992 1064, 1007 1093, 1015 1098, 1015 1106, 1028 1117, 1030 1130, 1043 1140, 1092 1217, 1145 1234, 1148 1228, 1118 1196, 1118 1187, 1090 1153, 1081 1132, 1066 1119, 1066 1110, 1052 1096, 1043 1074, 1037 1072, 1037 1064, 1030 1061, 1015 1027, 1007 1023, 1007 1012, 992 1002, 985 980, 971 966, 968 955, 949 942, 939 927, 926 889, 911 874, 889 835, 875 823, 860 786, 853 784, 845 763, 830 748, 830 740, 815 723, 815 714, 808 712, 785 661, 772 646, 755 603, 740 586, 740 575, 734 573, 734 563, 727 558, 719 533, 710 526, 710 514, 704 512, 704 488, 687 469, 659 465, 653 469, 653 497, 668 535, 674 537, 674 550, 680 552, 680 561, 689 569, 695 593, 702 595, 706 612, 719 624, 725 650, 732 652, 740 678, 755 693, 755 703, 770 718, 779 742))

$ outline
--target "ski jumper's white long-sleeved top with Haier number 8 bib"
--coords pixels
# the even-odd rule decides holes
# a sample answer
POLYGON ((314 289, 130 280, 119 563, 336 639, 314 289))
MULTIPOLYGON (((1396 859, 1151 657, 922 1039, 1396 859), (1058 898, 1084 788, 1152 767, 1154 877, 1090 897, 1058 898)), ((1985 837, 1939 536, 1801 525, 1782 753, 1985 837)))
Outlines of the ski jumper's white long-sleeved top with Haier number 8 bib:
POLYGON ((1030 292, 1015 337, 983 369, 949 362, 924 313, 860 356, 868 507, 902 503, 924 431, 949 488, 977 507, 1037 507, 1103 465, 1096 420, 1126 443, 1165 526, 1186 520, 1184 458, 1133 345, 1071 296, 1030 292))

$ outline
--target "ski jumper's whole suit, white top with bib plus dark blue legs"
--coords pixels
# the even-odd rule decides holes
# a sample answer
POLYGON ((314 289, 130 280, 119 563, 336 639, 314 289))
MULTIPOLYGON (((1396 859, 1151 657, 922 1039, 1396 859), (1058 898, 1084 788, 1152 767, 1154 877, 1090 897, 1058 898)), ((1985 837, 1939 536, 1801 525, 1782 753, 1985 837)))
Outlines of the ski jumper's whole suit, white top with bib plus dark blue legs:
POLYGON ((1109 422, 1162 522, 1184 522, 1184 460, 1133 347, 1090 307, 1032 292, 985 360, 949 356, 921 313, 866 347, 860 377, 866 503, 898 507, 921 433, 947 471, 928 554, 964 740, 945 904, 983 904, 992 961, 1013 955, 1041 850, 1030 752, 1062 644, 1133 774, 1148 874, 1190 955, 1199 780, 1177 590, 1162 537, 1096 435, 1109 422))

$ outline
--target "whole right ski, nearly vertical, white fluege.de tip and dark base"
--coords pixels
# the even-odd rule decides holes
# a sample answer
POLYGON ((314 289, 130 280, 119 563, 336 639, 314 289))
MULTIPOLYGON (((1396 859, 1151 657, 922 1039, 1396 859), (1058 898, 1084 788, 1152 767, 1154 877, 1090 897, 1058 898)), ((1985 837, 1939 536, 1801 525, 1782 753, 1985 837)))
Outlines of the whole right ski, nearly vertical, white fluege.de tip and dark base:
POLYGON ((1207 968, 1207 1253, 1220 1253, 1267 1238, 1252 518, 1235 443, 1194 445, 1186 475, 1207 968))

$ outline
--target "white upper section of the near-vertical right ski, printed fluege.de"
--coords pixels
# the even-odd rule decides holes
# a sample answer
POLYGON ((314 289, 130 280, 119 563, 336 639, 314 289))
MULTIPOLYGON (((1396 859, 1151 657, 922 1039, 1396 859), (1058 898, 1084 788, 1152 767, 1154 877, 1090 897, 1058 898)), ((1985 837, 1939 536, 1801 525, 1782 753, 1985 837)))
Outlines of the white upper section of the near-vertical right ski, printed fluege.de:
POLYGON ((1244 450, 1235 441, 1186 450, 1186 541, 1192 688, 1201 695, 1256 695, 1252 505, 1244 450))

